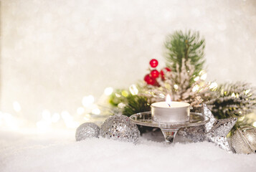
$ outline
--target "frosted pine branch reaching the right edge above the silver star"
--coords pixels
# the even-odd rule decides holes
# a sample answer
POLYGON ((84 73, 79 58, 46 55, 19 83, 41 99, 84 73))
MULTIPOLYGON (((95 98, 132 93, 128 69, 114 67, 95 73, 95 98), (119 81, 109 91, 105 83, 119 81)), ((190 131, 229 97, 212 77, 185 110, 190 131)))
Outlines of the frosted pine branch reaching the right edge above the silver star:
POLYGON ((240 118, 255 110, 255 88, 244 82, 219 85, 207 104, 217 118, 240 118))

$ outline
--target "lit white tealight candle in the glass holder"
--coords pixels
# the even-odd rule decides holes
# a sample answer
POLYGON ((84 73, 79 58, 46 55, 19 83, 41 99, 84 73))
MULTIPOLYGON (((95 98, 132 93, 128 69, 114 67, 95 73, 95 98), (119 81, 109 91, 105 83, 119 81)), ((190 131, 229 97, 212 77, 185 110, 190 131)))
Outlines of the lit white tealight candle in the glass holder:
POLYGON ((166 102, 154 102, 151 105, 152 119, 161 123, 184 123, 189 120, 189 103, 173 102, 170 95, 166 102))

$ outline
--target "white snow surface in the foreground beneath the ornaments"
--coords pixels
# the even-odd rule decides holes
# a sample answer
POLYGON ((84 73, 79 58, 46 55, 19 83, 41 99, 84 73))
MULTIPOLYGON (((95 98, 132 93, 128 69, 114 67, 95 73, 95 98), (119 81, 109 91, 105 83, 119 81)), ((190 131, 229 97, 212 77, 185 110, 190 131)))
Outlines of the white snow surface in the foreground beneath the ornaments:
POLYGON ((146 138, 123 143, 75 141, 74 132, 0 132, 0 171, 255 171, 256 155, 227 153, 212 143, 166 145, 146 138))

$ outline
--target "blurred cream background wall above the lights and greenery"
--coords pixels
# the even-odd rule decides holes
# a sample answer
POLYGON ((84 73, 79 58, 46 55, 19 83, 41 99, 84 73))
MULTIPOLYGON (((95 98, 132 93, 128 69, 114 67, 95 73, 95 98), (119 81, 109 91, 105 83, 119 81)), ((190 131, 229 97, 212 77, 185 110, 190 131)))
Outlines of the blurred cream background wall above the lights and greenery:
MULTIPOLYGON (((256 1, 1 1, 1 110, 37 121, 143 80, 176 29, 205 37, 208 80, 256 86, 256 1), (21 110, 14 111, 19 102, 21 110)), ((18 105, 18 108, 19 108, 18 105)))

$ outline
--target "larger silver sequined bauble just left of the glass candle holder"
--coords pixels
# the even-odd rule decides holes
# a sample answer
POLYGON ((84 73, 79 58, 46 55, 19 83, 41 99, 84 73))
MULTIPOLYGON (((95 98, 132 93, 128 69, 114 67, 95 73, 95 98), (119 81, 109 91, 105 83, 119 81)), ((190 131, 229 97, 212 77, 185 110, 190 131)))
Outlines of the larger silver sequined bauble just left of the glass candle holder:
POLYGON ((100 136, 103 138, 112 138, 136 143, 140 132, 136 124, 134 124, 125 115, 114 115, 105 120, 100 128, 100 136))

